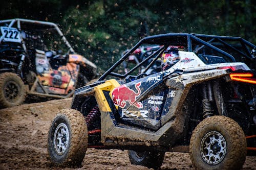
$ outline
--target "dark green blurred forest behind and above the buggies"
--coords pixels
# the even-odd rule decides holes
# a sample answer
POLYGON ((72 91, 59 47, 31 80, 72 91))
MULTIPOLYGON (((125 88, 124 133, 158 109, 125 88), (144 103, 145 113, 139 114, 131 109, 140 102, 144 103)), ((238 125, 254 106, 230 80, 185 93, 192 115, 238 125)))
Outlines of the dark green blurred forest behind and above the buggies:
POLYGON ((4 0, 0 20, 57 23, 74 50, 99 72, 141 38, 163 33, 239 36, 256 43, 256 1, 4 0))

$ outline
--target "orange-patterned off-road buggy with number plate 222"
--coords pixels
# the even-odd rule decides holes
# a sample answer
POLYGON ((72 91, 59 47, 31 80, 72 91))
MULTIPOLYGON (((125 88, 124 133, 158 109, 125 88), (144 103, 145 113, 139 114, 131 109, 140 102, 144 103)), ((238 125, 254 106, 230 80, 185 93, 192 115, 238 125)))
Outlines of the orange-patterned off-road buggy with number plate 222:
POLYGON ((26 94, 68 98, 96 76, 55 23, 8 19, 0 26, 0 107, 22 104, 26 94))

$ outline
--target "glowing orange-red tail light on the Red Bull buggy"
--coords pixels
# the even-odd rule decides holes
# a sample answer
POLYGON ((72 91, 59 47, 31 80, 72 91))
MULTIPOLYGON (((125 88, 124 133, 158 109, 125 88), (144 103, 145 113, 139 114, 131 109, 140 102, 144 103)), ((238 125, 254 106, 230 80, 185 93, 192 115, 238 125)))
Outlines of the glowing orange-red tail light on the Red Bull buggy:
POLYGON ((253 74, 250 72, 231 73, 229 76, 230 76, 231 80, 234 80, 234 81, 256 84, 256 79, 253 78, 253 74))

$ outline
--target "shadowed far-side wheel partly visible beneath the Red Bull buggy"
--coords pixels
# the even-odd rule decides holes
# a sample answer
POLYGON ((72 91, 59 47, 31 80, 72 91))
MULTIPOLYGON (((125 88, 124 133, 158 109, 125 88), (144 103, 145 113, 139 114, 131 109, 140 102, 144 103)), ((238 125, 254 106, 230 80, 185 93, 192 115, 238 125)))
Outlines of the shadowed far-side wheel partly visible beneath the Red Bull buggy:
POLYGON ((164 159, 164 152, 158 151, 136 152, 128 150, 128 155, 132 164, 154 169, 158 169, 162 165, 164 159))

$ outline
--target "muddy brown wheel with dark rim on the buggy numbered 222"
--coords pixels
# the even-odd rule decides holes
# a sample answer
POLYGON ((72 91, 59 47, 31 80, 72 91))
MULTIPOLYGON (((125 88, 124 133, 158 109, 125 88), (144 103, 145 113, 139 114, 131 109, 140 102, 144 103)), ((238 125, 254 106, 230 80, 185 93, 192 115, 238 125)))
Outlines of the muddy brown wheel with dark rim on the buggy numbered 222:
POLYGON ((7 108, 22 104, 26 98, 24 82, 13 72, 0 74, 0 107, 7 108))

